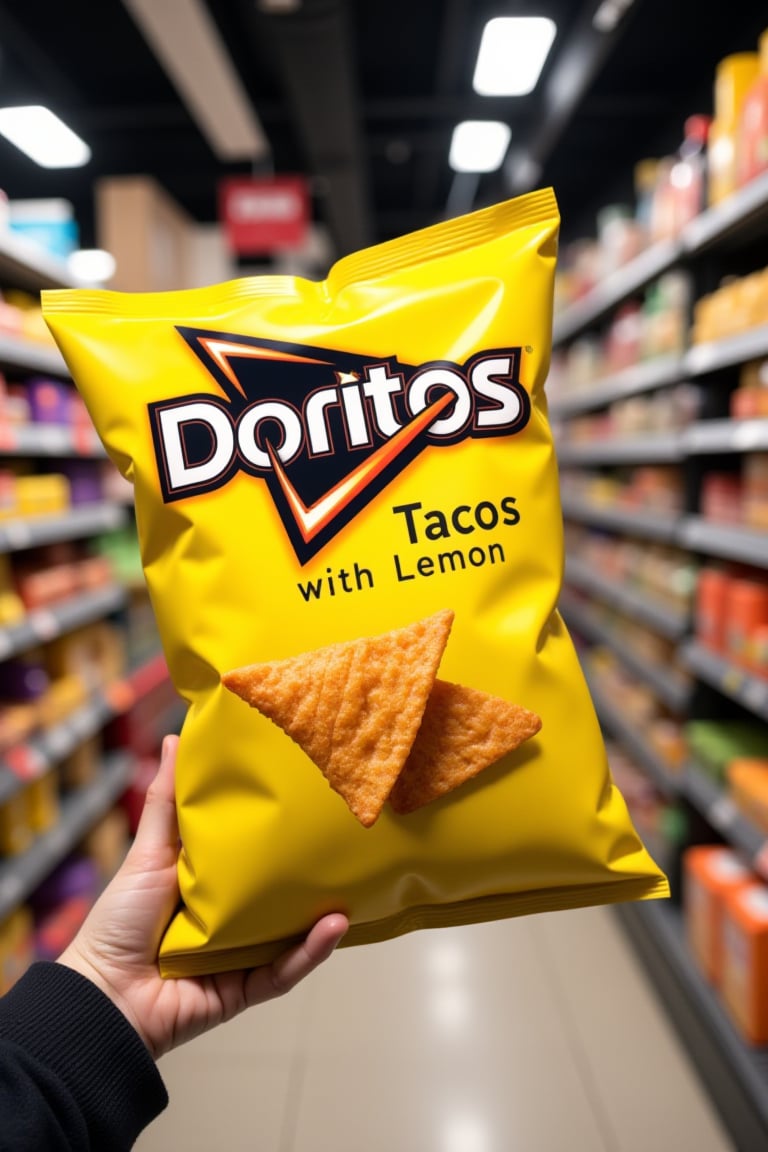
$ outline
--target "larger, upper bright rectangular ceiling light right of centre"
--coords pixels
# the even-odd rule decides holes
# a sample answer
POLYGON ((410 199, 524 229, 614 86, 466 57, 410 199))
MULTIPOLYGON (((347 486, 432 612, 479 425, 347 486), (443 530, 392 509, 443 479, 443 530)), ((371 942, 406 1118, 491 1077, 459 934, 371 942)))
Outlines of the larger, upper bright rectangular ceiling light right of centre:
POLYGON ((472 86, 480 96, 527 96, 557 28, 547 16, 496 16, 482 29, 472 86))

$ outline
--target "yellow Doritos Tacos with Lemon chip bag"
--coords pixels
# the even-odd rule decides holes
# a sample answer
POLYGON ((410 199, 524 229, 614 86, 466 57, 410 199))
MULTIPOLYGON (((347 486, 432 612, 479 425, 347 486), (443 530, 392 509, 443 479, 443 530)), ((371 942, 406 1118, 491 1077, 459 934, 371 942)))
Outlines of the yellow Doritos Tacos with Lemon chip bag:
POLYGON ((668 895, 556 607, 558 223, 543 189, 321 282, 43 294, 189 704, 164 975, 328 911, 357 945, 668 895))

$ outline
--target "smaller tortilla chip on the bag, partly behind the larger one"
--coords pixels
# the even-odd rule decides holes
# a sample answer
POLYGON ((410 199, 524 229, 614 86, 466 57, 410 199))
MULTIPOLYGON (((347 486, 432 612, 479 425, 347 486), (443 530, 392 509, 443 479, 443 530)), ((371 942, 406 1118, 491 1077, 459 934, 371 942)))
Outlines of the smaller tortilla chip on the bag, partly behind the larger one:
POLYGON ((389 803, 400 816, 413 812, 477 776, 540 728, 540 718, 527 708, 438 680, 389 803))

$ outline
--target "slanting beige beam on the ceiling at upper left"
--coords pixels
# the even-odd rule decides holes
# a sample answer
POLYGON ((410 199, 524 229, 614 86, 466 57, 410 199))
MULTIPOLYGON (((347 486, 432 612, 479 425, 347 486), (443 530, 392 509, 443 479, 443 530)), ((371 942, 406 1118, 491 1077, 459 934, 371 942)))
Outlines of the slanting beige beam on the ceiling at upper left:
POLYGON ((123 0, 220 160, 258 160, 269 144, 201 0, 123 0))

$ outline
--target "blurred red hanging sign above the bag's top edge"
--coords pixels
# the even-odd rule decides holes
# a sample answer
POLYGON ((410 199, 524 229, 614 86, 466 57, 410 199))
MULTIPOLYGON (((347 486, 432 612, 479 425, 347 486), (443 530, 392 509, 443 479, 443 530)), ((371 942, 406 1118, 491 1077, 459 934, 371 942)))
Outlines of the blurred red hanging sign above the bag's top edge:
POLYGON ((219 215, 227 242, 238 256, 301 248, 310 218, 306 181, 302 176, 223 180, 219 185, 219 215))

